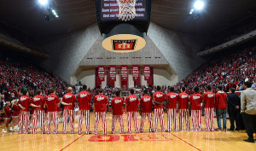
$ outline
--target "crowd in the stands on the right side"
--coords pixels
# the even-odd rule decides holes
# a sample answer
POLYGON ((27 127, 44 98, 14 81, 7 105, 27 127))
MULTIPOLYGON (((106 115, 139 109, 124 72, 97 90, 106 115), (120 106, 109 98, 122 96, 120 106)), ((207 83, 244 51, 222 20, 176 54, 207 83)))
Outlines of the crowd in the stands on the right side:
MULTIPOLYGON (((256 88, 256 47, 243 49, 241 51, 228 52, 222 57, 216 57, 208 61, 195 72, 177 83, 175 88, 179 90, 185 86, 188 93, 198 85, 201 93, 207 85, 215 88, 217 85, 223 85, 224 91, 234 87, 236 90, 243 90, 243 83, 246 81, 253 82, 253 89, 256 88)), ((213 89, 214 90, 214 89, 213 89)))

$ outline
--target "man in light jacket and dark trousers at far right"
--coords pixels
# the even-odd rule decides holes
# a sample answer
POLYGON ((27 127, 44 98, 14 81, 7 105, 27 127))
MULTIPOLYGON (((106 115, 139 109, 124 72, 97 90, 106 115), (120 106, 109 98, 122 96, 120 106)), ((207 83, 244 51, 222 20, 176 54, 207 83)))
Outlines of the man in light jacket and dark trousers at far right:
POLYGON ((246 126, 248 139, 245 142, 255 142, 253 133, 256 133, 256 90, 251 89, 252 83, 245 82, 241 91, 241 113, 246 126))

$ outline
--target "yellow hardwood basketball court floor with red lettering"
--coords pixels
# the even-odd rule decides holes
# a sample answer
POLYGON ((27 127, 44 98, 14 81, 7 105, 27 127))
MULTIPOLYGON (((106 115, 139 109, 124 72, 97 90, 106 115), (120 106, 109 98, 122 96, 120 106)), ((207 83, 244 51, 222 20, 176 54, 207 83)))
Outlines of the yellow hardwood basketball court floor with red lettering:
MULTIPOLYGON (((127 132, 126 114, 124 114, 125 131, 127 132)), ((166 114, 165 114, 166 117, 166 114)), ((140 118, 139 118, 140 121, 140 118)), ((165 118, 166 121, 166 118, 165 118)), ((204 119, 202 118, 202 121, 204 119)), ((79 135, 79 120, 75 120, 76 134, 70 132, 69 124, 67 125, 67 135, 64 134, 22 134, 13 132, 2 134, 0 142, 1 150, 9 151, 30 151, 30 150, 96 150, 96 151, 133 151, 133 150, 254 150, 254 143, 245 143, 241 140, 247 136, 245 131, 173 131, 148 133, 148 119, 145 121, 144 133, 136 134, 132 125, 131 135, 119 134, 119 123, 117 123, 116 134, 110 134, 112 114, 107 115, 108 135, 102 135, 102 122, 99 125, 98 135, 90 134, 79 135)), ((140 123, 140 122, 139 122, 140 123)), ((205 128, 202 122, 203 129, 205 128)), ((191 120, 190 120, 191 124, 191 120)), ((217 121, 215 119, 215 125, 217 121)), ((62 123, 59 124, 59 131, 62 130, 62 123)), ((229 121, 227 121, 229 127, 229 121)), ((83 127, 84 128, 84 127, 83 127)), ((90 131, 94 131, 94 116, 90 113, 90 131)), ((38 130, 40 133, 40 130, 38 130)))

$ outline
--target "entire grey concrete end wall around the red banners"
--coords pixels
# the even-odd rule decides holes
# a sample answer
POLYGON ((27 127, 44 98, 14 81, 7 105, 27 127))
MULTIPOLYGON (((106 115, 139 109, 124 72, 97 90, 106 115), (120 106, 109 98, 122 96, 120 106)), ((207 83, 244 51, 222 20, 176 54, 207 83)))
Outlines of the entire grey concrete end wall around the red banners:
MULTIPOLYGON (((113 53, 102 48, 102 36, 95 24, 46 44, 44 49, 50 57, 41 65, 68 83, 76 84, 81 80, 93 87, 95 73, 83 73, 87 70, 79 70, 79 67, 167 65, 169 66, 167 72, 155 70, 157 73, 154 75, 154 84, 176 84, 203 62, 196 55, 201 48, 201 41, 195 36, 172 32, 151 22, 146 41, 145 48, 137 52, 113 53)), ((119 83, 116 83, 116 86, 118 85, 119 83)), ((131 75, 129 75, 129 86, 133 86, 131 75)))

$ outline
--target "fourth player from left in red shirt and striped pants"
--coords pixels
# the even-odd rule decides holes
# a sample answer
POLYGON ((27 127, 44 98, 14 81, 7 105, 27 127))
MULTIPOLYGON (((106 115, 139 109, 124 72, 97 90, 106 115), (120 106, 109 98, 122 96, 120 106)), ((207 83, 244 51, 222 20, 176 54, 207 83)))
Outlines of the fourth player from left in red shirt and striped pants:
POLYGON ((67 133, 67 117, 70 116, 70 133, 74 133, 74 104, 76 102, 76 96, 72 93, 67 93, 62 97, 62 102, 65 103, 72 103, 71 105, 64 106, 64 113, 63 113, 63 134, 67 133))

